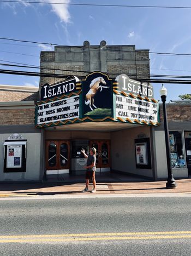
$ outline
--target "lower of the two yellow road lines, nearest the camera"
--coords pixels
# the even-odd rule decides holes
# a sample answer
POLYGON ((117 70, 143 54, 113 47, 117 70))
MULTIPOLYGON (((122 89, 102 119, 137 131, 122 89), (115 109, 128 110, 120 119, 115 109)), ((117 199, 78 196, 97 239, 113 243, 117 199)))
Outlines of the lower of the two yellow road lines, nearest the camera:
POLYGON ((0 243, 26 243, 26 242, 71 242, 71 241, 98 241, 98 240, 152 240, 152 239, 191 238, 191 235, 181 236, 114 236, 114 237, 83 237, 83 238, 47 238, 47 239, 20 239, 0 240, 0 243))

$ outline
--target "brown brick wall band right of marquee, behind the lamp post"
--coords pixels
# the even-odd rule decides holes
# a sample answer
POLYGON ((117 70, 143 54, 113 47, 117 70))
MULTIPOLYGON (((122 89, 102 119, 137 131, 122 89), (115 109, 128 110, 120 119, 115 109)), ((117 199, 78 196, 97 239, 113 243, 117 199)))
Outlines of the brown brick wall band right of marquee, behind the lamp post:
MULTIPOLYGON (((168 121, 191 121, 191 106, 190 105, 166 105, 168 121)), ((163 118, 163 106, 160 105, 160 121, 163 118)))

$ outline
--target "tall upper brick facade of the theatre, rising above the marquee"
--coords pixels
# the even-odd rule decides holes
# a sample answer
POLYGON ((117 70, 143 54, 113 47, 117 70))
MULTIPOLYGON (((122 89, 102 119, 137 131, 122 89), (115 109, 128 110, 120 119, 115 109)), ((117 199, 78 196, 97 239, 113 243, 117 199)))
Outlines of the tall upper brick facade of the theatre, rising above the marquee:
MULTIPOLYGON (((93 46, 95 47, 95 45, 93 46)), ((41 72, 53 73, 55 71, 44 70, 44 67, 51 67, 53 69, 64 69, 74 71, 59 71, 55 73, 63 75, 85 76, 86 73, 80 71, 99 71, 99 67, 115 78, 117 75, 125 73, 132 79, 150 78, 150 59, 149 50, 135 50, 135 45, 107 45, 104 53, 100 52, 97 45, 97 51, 89 46, 77 49, 74 47, 55 47, 55 52, 41 52, 40 66, 41 72), (76 70, 76 71, 75 71, 76 70)), ((100 71, 103 71, 100 70, 100 71)), ((40 78, 40 86, 45 83, 56 83, 62 81, 62 78, 40 78)))

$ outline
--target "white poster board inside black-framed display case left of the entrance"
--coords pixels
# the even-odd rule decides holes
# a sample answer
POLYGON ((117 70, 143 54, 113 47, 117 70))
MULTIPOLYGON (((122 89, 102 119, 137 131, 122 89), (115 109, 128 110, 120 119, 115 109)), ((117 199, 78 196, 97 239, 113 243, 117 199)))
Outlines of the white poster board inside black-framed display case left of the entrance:
POLYGON ((7 146, 7 168, 21 168, 22 145, 7 146))

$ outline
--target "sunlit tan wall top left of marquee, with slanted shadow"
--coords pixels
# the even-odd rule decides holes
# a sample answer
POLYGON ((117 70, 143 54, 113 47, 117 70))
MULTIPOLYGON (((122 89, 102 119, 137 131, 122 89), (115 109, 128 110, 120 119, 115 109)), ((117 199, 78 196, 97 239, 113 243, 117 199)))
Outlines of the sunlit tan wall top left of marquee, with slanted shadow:
POLYGON ((38 100, 38 92, 15 92, 13 90, 0 90, 0 102, 38 100))

